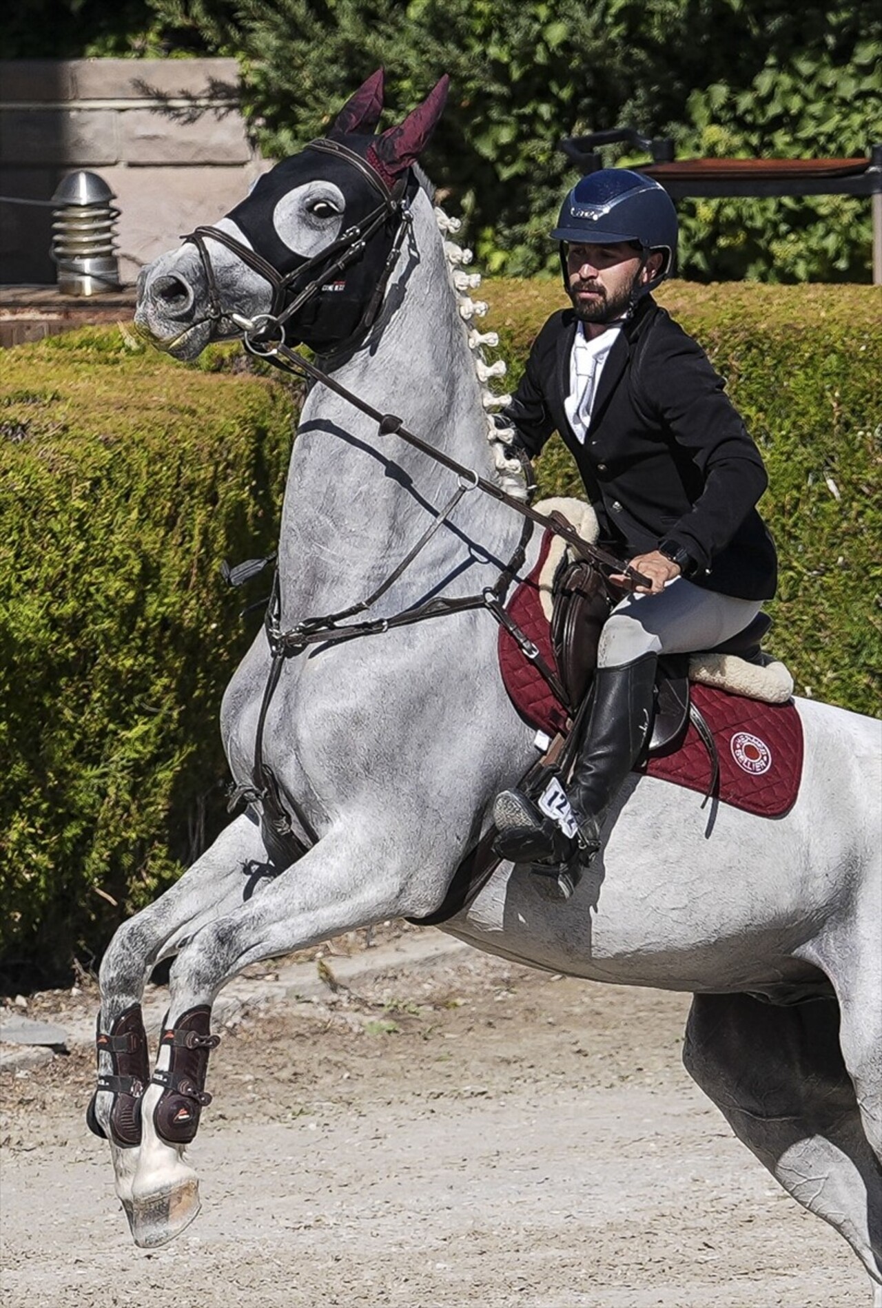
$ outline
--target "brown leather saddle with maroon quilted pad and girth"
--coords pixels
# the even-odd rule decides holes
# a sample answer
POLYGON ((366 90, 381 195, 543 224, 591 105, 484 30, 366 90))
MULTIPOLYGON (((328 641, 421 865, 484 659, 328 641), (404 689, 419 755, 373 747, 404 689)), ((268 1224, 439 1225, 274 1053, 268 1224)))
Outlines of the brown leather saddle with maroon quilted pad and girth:
MULTIPOLYGON (((572 763, 591 700, 601 630, 612 606, 626 594, 609 582, 593 564, 584 560, 568 561, 565 556, 556 566, 552 565, 554 581, 548 578, 546 582, 543 569, 547 556, 546 539, 530 578, 516 590, 505 608, 501 606, 491 608, 501 628, 500 668, 509 696, 518 713, 531 725, 539 726, 550 746, 543 757, 538 759, 518 782, 518 786, 531 795, 542 793, 552 774, 567 773, 568 764, 572 763), (550 600, 547 608, 540 602, 540 591, 544 591, 546 599, 550 600)), ((703 651, 700 666, 696 666, 695 657, 690 654, 660 658, 649 743, 636 770, 677 781, 703 794, 714 794, 721 768, 714 731, 704 717, 708 713, 716 730, 722 729, 721 739, 728 746, 726 757, 722 760, 722 778, 728 786, 724 798, 732 803, 739 802, 732 794, 729 774, 733 769, 755 772, 754 780, 766 795, 773 789, 767 783, 771 780, 767 772, 769 749, 763 739, 751 734, 755 719, 749 719, 747 731, 743 730, 745 723, 741 718, 733 725, 721 723, 717 705, 722 700, 749 710, 763 710, 780 715, 785 729, 786 739, 783 739, 783 747, 779 749, 776 746, 773 749, 776 757, 781 755, 792 760, 784 783, 777 783, 784 798, 773 795, 767 812, 768 816, 776 816, 786 811, 798 785, 802 739, 798 715, 792 708, 785 708, 793 688, 792 679, 781 664, 769 661, 760 651, 760 641, 771 625, 771 619, 766 613, 759 613, 734 637, 712 651, 703 651), (741 670, 739 675, 734 675, 729 666, 732 655, 735 657, 734 663, 741 670), (775 668, 781 668, 783 676, 769 678, 775 668), (745 671, 750 674, 747 678, 743 675, 745 671), (772 680, 776 684, 772 684, 772 680), (691 681, 703 683, 696 687, 695 695, 690 688, 691 681), (739 684, 735 685, 734 681, 739 684), (762 693, 758 693, 758 681, 763 681, 762 693), (759 700, 764 702, 758 702, 759 700), (735 759, 733 763, 729 753, 735 752, 735 747, 741 748, 742 743, 745 760, 738 764, 735 759), (756 749, 764 751, 763 761, 758 764, 747 757, 747 753, 756 749), (703 768, 701 760, 695 759, 696 751, 704 756, 703 768), (678 773, 678 760, 683 756, 690 757, 694 776, 682 774, 683 769, 678 773)), ((762 731, 766 732, 766 719, 760 721, 762 731)), ((491 825, 478 845, 463 858, 441 906, 427 917, 410 921, 424 926, 438 926, 467 908, 500 862, 493 853, 496 835, 496 828, 491 825)))

